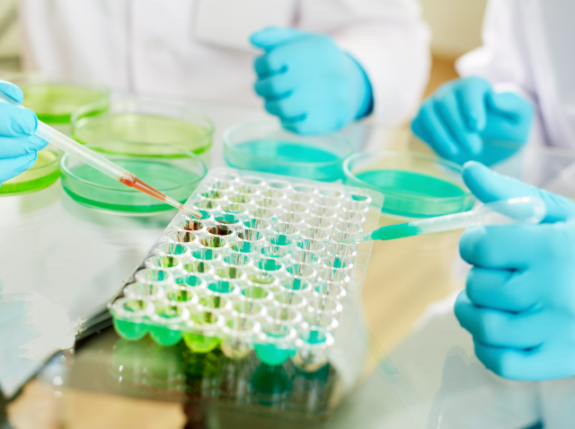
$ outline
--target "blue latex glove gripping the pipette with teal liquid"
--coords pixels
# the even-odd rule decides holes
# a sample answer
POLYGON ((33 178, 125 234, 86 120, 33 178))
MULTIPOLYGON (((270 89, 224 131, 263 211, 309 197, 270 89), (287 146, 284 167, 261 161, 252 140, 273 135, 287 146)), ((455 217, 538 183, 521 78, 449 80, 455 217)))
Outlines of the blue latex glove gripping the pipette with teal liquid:
POLYGON ((463 174, 483 202, 535 195, 547 207, 540 225, 470 228, 461 237, 473 268, 456 317, 477 357, 514 380, 575 376, 575 202, 476 162, 463 174))

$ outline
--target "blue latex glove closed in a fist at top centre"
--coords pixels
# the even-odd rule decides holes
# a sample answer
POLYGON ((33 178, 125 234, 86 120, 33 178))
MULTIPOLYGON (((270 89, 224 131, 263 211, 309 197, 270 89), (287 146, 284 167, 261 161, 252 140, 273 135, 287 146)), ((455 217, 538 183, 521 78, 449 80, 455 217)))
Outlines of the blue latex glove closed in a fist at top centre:
POLYGON ((329 36, 270 27, 252 34, 256 94, 287 130, 323 134, 366 116, 373 96, 366 73, 329 36))

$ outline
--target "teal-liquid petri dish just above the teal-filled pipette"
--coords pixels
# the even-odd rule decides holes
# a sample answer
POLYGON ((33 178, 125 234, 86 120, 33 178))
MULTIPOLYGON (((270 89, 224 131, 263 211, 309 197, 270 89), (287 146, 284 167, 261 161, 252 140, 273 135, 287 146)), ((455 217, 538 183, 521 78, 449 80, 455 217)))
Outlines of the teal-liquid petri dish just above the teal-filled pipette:
POLYGON ((471 210, 475 197, 465 187, 461 166, 413 152, 359 152, 343 163, 344 182, 384 194, 382 212, 429 218, 471 210))

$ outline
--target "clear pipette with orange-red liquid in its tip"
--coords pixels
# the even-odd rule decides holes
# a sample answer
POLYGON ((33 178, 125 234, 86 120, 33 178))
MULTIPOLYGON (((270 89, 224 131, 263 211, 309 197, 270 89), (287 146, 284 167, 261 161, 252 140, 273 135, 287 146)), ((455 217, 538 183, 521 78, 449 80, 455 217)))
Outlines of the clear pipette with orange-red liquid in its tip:
MULTIPOLYGON (((0 93, 0 99, 5 103, 22 106, 22 104, 15 102, 12 98, 3 93, 0 93)), ((154 187, 138 179, 136 174, 132 174, 119 165, 112 163, 110 159, 100 155, 88 147, 85 147, 84 145, 81 145, 74 139, 70 139, 61 132, 49 127, 44 122, 38 121, 38 128, 36 129, 35 134, 41 139, 47 140, 52 145, 59 147, 67 154, 77 157, 85 164, 93 166, 93 168, 103 174, 109 175, 112 179, 117 180, 120 183, 124 183, 130 188, 145 192, 151 197, 164 201, 166 204, 170 204, 176 209, 183 210, 194 218, 201 218, 201 213, 199 213, 198 210, 193 210, 190 207, 186 207, 180 202, 175 201, 163 192, 158 191, 154 187)))

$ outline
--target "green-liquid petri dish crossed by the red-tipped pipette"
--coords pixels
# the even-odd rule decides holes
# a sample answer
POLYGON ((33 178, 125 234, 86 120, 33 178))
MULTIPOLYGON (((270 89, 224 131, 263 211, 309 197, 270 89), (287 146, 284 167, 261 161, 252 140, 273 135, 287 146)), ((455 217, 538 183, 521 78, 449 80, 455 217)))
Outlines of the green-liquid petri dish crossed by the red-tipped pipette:
MULTIPOLYGON (((198 156, 180 147, 127 142, 102 142, 87 146, 180 202, 190 198, 208 172, 198 156)), ((62 157, 61 170, 64 190, 84 206, 131 216, 174 210, 172 206, 85 165, 74 156, 62 157)))

